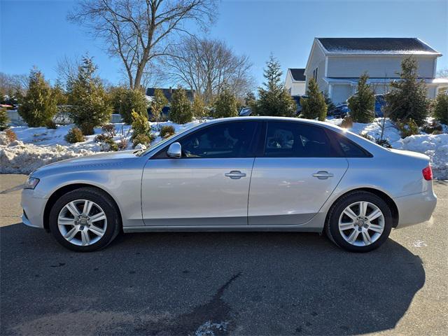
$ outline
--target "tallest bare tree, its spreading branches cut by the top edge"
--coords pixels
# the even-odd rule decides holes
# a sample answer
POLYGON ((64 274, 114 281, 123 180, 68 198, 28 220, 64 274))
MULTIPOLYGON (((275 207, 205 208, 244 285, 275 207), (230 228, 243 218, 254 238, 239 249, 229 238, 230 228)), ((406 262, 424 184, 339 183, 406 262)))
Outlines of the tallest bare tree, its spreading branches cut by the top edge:
POLYGON ((216 0, 79 0, 69 20, 104 38, 130 87, 138 88, 148 62, 167 55, 173 34, 190 34, 187 22, 204 27, 215 13, 216 0))

